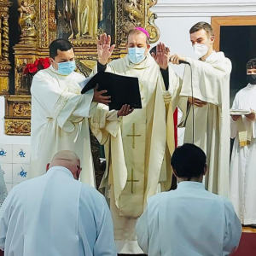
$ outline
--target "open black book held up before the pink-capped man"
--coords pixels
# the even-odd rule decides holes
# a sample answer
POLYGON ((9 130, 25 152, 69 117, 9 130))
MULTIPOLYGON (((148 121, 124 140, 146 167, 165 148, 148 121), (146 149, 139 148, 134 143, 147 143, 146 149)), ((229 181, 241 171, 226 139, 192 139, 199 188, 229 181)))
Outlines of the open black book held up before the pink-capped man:
POLYGON ((119 110, 128 104, 131 108, 142 108, 142 100, 137 78, 120 76, 114 73, 99 72, 80 82, 84 94, 99 84, 98 90, 108 90, 103 96, 111 96, 110 110, 119 110))

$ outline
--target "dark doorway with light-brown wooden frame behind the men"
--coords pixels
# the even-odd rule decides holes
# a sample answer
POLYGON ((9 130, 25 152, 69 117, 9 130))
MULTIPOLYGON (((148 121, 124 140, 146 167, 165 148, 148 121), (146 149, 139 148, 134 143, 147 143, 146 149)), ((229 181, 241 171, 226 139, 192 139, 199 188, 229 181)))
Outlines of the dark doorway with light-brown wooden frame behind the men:
POLYGON ((247 86, 246 64, 256 58, 256 16, 212 17, 213 47, 232 62, 230 107, 236 93, 247 86))

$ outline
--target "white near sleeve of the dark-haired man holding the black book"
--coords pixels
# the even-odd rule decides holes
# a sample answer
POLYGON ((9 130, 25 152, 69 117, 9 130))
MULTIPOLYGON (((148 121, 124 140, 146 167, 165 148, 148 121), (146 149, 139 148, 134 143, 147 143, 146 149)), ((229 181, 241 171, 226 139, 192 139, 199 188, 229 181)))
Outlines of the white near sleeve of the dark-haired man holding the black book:
POLYGON ((96 108, 96 102, 92 102, 93 91, 81 95, 68 90, 62 90, 57 84, 53 84, 45 73, 37 73, 32 81, 32 99, 37 101, 49 118, 55 119, 63 128, 67 119, 90 117, 90 110, 96 108))

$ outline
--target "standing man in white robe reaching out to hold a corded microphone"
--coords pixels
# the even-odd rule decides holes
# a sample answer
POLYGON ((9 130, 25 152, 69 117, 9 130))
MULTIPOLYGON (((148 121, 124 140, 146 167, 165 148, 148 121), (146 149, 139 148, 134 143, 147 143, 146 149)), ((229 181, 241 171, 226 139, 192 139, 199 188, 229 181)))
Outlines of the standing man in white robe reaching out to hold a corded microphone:
MULTIPOLYGON (((172 55, 172 63, 186 61, 179 108, 184 143, 195 143, 207 154, 208 191, 230 195, 230 73, 231 62, 223 52, 213 50, 214 32, 207 22, 189 31, 198 60, 172 55), (192 77, 191 77, 192 75, 192 77)), ((171 68, 171 67, 170 67, 171 68)))

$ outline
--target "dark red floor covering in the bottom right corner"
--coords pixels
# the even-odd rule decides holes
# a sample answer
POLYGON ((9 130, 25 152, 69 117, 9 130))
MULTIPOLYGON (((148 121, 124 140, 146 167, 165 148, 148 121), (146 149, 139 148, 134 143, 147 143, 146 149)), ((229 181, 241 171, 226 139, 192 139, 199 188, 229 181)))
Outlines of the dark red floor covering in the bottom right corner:
POLYGON ((240 245, 232 256, 255 256, 256 233, 242 233, 240 245))

